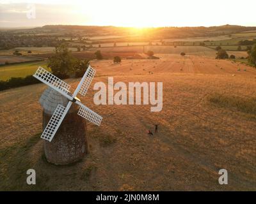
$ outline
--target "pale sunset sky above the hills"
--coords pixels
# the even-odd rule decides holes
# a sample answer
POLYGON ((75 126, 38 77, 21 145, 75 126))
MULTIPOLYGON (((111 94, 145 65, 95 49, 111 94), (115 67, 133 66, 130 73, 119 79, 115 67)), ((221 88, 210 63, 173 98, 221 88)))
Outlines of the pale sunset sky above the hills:
POLYGON ((255 0, 0 0, 0 27, 53 24, 256 26, 255 0))

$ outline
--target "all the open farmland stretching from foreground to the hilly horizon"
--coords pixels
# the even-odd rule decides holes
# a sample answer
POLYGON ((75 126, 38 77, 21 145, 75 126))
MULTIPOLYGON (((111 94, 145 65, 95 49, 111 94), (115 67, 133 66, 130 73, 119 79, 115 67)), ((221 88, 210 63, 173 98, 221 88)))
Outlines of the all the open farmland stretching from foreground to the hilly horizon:
MULTIPOLYGON (((54 46, 65 43, 74 57, 90 59, 97 71, 88 93, 79 98, 103 120, 100 127, 87 122, 90 154, 78 163, 54 166, 45 160, 40 139, 38 99, 46 85, 1 91, 0 190, 256 191, 256 69, 246 64, 247 46, 237 51, 239 41, 256 37, 255 29, 230 26, 136 33, 128 28, 60 25, 58 30, 46 25, 4 31, 4 46, 9 47, 0 50, 0 63, 17 64, 1 65, 0 80, 47 68, 54 46), (218 45, 236 59, 215 59, 218 45), (13 55, 15 50, 22 55, 13 55), (103 60, 95 59, 97 50, 103 60), (149 59, 148 51, 159 59, 149 59), (122 61, 114 63, 115 56, 122 61), (42 61, 30 62, 35 59, 42 61), (163 110, 95 105, 93 85, 107 84, 108 77, 125 84, 163 82, 163 110), (153 131, 154 123, 159 133, 150 136, 147 131, 153 131), (36 170, 35 186, 24 182, 28 168, 36 170), (228 170, 228 185, 218 184, 221 168, 228 170)), ((65 82, 72 92, 79 78, 65 82)))

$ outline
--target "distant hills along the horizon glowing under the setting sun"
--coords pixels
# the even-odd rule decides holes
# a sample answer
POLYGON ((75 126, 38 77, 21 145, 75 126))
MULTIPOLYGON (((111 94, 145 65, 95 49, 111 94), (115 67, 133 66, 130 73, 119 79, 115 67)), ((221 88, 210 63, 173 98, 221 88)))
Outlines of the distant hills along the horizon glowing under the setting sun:
POLYGON ((132 27, 97 26, 97 25, 44 25, 30 29, 16 29, 9 32, 23 34, 72 34, 74 36, 116 35, 116 36, 140 36, 148 40, 166 38, 191 38, 221 36, 245 31, 256 31, 256 27, 241 25, 220 25, 212 27, 148 27, 134 29, 132 27))

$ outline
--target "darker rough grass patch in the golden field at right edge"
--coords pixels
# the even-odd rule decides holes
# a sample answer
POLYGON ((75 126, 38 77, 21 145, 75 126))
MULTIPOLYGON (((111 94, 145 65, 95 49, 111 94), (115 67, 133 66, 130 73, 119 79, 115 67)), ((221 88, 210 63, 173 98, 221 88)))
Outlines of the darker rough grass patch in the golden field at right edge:
POLYGON ((208 96, 208 101, 223 108, 232 108, 239 112, 249 114, 250 118, 256 119, 256 98, 242 98, 239 96, 225 96, 214 93, 208 96))

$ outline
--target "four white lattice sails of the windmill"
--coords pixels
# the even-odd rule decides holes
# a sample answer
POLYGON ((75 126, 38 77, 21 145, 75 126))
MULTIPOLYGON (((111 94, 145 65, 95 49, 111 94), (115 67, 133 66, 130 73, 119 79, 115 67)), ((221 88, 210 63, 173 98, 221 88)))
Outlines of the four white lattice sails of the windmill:
POLYGON ((90 110, 90 108, 84 106, 83 103, 81 103, 81 100, 76 97, 77 94, 85 96, 95 73, 95 69, 93 69, 91 66, 88 66, 88 69, 84 73, 83 78, 77 85, 76 91, 74 92, 74 94, 71 94, 71 92, 69 91, 70 85, 68 85, 66 82, 63 82, 63 80, 60 80, 60 78, 52 75, 52 73, 50 73, 42 67, 39 67, 36 70, 36 73, 33 75, 33 77, 37 78, 38 80, 48 85, 49 87, 59 92, 61 95, 65 96, 68 99, 68 104, 66 107, 60 104, 57 106, 46 128, 44 129, 41 138, 51 142, 52 138, 58 131, 58 128, 60 127, 62 120, 68 113, 68 110, 72 103, 76 103, 80 106, 79 111, 77 113, 78 115, 80 115, 84 119, 89 120, 90 122, 93 122, 97 126, 100 126, 102 117, 97 113, 93 112, 92 110, 90 110))

